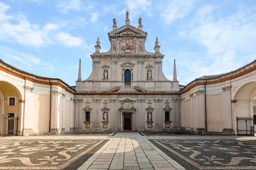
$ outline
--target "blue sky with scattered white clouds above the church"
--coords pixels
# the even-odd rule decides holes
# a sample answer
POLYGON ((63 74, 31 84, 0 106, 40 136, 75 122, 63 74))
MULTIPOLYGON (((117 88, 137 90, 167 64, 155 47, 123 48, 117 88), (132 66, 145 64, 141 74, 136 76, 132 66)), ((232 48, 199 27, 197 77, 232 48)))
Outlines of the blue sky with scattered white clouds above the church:
POLYGON ((79 58, 82 80, 92 72, 90 55, 100 37, 130 25, 148 33, 145 49, 154 52, 156 36, 163 72, 187 85, 197 77, 236 70, 256 58, 255 0, 0 0, 0 59, 21 70, 75 85, 79 58))

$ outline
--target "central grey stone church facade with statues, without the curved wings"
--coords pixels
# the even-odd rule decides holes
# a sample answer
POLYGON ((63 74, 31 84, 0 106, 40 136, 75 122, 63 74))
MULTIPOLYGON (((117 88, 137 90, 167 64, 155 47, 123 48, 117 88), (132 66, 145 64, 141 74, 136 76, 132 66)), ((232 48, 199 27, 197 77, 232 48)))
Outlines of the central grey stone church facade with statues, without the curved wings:
MULTIPOLYGON (((127 24, 120 28, 117 28, 115 19, 113 23, 113 31, 108 33, 111 48, 106 53, 100 53, 98 37, 95 53, 91 55, 92 74, 84 81, 76 81, 75 99, 82 101, 75 103, 75 130, 125 130, 126 116, 127 120, 130 117, 130 130, 180 128, 180 117, 176 116, 180 115, 180 109, 164 110, 167 105, 175 108, 180 102, 180 85, 176 79, 171 81, 164 77, 164 55, 160 53, 157 37, 155 53, 148 53, 144 46, 148 33, 141 26, 129 25, 129 18, 126 18, 127 24), (90 128, 86 128, 83 121, 87 104, 92 108, 90 128), (103 108, 108 108, 108 121, 102 121, 103 108), (167 112, 169 116, 165 120, 167 112), (168 126, 165 126, 165 121, 169 121, 168 126)), ((80 67, 78 77, 81 75, 80 67)))

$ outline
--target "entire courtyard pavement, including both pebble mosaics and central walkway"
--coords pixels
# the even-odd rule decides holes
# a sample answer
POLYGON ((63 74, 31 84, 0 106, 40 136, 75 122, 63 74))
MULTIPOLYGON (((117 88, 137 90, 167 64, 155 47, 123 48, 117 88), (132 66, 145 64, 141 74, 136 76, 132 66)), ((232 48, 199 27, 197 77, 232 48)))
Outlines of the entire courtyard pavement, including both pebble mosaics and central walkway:
POLYGON ((13 136, 0 140, 0 169, 256 169, 255 141, 168 132, 13 136))

